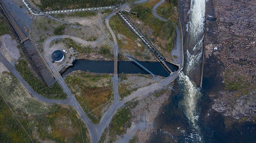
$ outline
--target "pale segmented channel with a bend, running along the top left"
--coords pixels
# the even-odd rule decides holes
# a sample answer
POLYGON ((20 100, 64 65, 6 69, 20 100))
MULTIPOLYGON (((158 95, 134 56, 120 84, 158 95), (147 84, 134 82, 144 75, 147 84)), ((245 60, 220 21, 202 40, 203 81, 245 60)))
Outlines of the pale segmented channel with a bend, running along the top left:
POLYGON ((59 14, 59 13, 70 13, 70 12, 81 12, 81 11, 95 11, 95 10, 105 10, 105 9, 116 9, 116 6, 109 5, 109 6, 99 6, 99 7, 93 7, 93 8, 79 8, 79 9, 66 9, 66 10, 52 10, 52 11, 42 11, 37 12, 32 9, 30 4, 26 0, 22 0, 22 2, 25 4, 28 11, 30 11, 33 15, 45 15, 45 14, 59 14))

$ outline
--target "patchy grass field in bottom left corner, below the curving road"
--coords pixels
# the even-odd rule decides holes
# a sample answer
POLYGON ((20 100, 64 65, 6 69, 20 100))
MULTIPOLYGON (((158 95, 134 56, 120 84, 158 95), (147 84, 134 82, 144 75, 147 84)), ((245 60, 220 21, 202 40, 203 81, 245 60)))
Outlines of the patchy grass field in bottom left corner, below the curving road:
POLYGON ((14 114, 0 96, 1 142, 31 142, 21 128, 24 126, 33 142, 90 142, 83 122, 81 127, 76 112, 71 107, 44 104, 31 97, 11 73, 0 76, 0 94, 10 105, 14 114), (40 141, 39 141, 40 140, 40 141))

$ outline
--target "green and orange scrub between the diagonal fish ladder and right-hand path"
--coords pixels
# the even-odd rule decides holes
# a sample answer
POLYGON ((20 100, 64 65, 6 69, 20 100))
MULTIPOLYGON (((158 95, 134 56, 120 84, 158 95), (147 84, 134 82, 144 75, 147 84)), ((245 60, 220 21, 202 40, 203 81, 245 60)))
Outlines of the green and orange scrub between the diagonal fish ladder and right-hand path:
MULTIPOLYGON (((173 24, 173 21, 175 21, 173 18, 173 9, 178 3, 176 3, 176 0, 170 0, 170 2, 164 2, 163 5, 161 5, 162 7, 160 6, 160 9, 158 8, 157 12, 160 13, 159 15, 167 19, 167 21, 164 22, 156 18, 152 13, 152 8, 157 2, 158 1, 151 1, 136 5, 132 11, 137 12, 138 18, 153 30, 153 36, 155 38, 150 38, 151 41, 153 43, 158 41, 160 43, 159 46, 163 50, 170 52, 173 48, 173 42, 176 39, 175 24, 173 24), (162 40, 159 41, 156 37, 162 40)), ((133 17, 135 18, 135 16, 133 17)))

